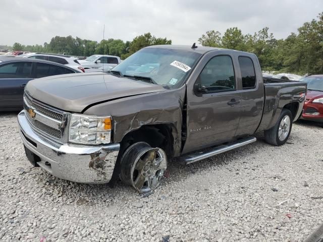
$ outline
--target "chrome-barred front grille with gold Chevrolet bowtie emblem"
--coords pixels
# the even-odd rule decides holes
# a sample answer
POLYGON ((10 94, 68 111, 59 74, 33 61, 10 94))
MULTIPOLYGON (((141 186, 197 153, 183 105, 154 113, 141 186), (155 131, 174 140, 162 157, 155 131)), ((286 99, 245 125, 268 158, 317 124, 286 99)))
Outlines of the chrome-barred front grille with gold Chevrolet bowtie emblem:
POLYGON ((64 143, 67 141, 65 127, 69 113, 39 102, 27 93, 24 95, 24 109, 31 127, 38 133, 55 138, 64 143))

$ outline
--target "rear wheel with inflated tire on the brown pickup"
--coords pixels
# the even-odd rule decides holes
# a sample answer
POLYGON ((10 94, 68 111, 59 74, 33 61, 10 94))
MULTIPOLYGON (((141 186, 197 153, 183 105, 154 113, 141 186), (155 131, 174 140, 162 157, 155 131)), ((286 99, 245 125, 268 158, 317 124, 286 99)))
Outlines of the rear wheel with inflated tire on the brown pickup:
POLYGON ((291 133, 292 124, 291 111, 283 108, 276 125, 270 130, 264 131, 265 141, 276 146, 284 145, 291 133))

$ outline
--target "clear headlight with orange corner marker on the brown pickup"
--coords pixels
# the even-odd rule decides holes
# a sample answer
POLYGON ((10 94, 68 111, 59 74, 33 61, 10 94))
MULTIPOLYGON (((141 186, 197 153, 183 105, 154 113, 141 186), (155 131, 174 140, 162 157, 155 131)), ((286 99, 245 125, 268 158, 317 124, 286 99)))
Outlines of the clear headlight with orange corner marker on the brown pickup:
POLYGON ((90 145, 110 143, 111 127, 111 116, 72 114, 69 127, 69 142, 90 145))

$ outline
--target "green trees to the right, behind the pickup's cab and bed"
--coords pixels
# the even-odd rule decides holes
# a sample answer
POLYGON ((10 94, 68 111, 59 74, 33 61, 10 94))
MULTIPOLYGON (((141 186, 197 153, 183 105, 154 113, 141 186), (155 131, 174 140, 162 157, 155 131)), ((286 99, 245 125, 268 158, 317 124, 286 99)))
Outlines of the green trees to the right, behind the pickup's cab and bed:
POLYGON ((199 39, 203 46, 229 48, 255 53, 262 70, 297 74, 323 73, 323 13, 304 23, 297 33, 276 39, 265 27, 258 32, 242 34, 237 27, 222 35, 210 30, 199 39))

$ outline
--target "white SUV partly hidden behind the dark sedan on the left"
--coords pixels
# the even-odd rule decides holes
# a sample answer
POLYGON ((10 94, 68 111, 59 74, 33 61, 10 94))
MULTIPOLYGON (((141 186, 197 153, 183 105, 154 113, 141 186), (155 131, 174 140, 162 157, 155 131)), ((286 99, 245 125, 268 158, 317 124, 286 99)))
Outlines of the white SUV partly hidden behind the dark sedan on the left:
POLYGON ((56 62, 73 68, 78 71, 84 72, 84 68, 78 62, 77 58, 64 54, 51 54, 51 53, 30 53, 23 56, 24 58, 45 59, 46 61, 56 62))

